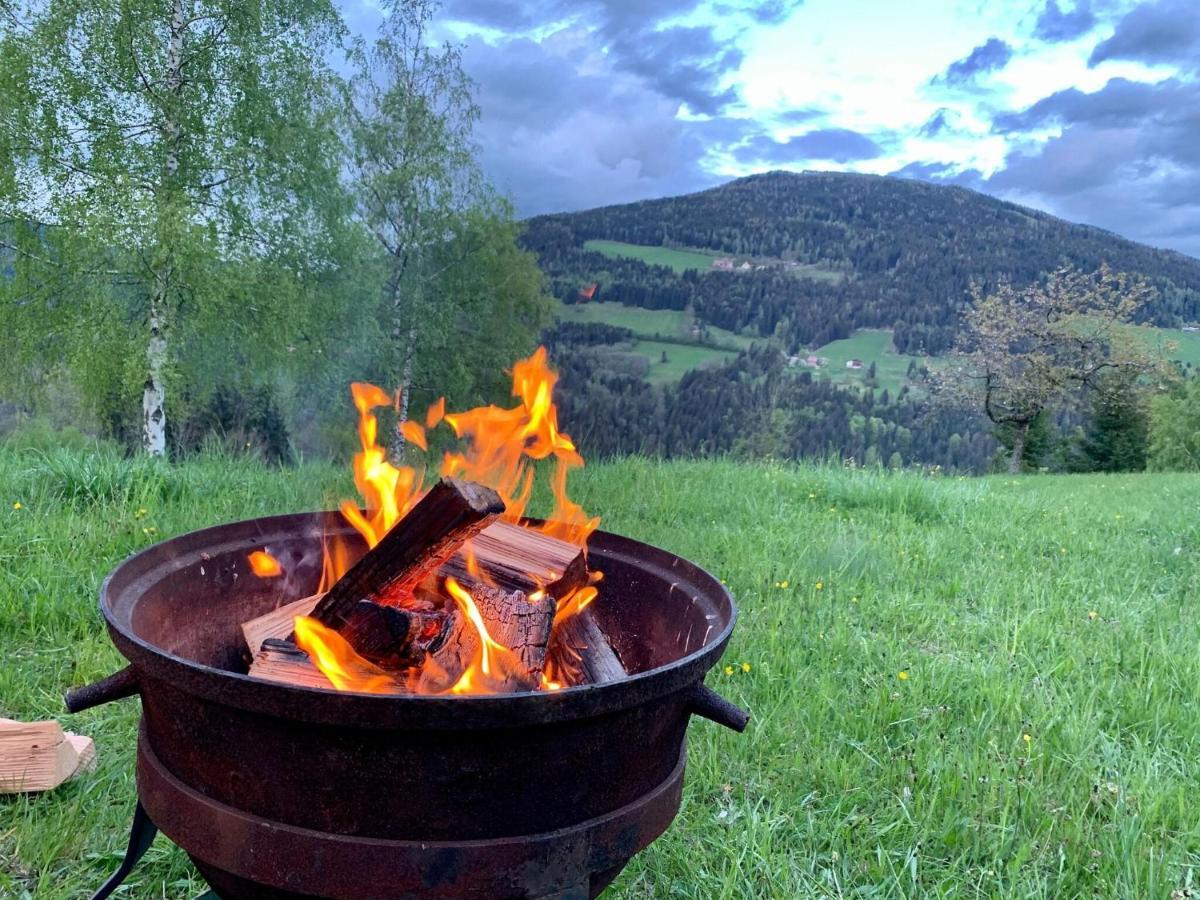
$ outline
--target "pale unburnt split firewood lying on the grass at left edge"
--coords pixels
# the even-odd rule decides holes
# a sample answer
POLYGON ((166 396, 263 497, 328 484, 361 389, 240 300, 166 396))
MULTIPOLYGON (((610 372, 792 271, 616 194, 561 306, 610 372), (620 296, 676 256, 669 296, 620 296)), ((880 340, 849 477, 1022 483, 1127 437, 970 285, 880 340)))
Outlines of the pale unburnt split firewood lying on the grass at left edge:
POLYGON ((55 721, 0 719, 0 793, 49 791, 96 767, 96 744, 55 721))

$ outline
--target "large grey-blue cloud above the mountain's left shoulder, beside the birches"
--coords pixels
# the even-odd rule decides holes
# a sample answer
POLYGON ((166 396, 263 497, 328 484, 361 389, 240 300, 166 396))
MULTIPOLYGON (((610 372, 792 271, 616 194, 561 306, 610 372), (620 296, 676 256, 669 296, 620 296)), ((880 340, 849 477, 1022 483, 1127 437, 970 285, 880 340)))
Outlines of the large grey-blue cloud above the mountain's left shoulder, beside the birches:
POLYGON ((679 101, 605 67, 588 34, 467 47, 478 85, 476 143, 485 170, 521 215, 587 209, 716 184, 702 161, 757 126, 678 119, 679 101))

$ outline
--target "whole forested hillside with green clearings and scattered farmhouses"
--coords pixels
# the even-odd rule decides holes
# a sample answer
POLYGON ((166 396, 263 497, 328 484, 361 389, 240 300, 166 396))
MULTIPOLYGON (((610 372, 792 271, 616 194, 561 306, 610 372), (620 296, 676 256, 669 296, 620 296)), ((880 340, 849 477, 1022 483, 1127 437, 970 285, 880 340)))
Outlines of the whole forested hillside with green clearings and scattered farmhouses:
MULTIPOLYGON (((989 292, 1064 263, 1106 263, 1154 287, 1138 320, 1180 329, 1200 319, 1200 260, 893 178, 773 172, 541 216, 523 241, 563 304, 545 340, 563 372, 564 427, 605 456, 827 456, 980 472, 998 446, 992 425, 930 407, 926 391, 972 282, 989 292), (670 377, 686 354, 696 362, 670 377)), ((1195 335, 1166 337, 1186 362, 1195 335)), ((1052 428, 1069 443, 1080 424, 1064 409, 1052 428)))

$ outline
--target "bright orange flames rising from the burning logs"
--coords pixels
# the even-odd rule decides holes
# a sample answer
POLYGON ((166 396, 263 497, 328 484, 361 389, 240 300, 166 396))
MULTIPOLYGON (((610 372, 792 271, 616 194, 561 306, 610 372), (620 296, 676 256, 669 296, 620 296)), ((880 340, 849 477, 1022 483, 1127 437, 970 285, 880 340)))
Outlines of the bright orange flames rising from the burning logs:
MULTIPOLYGON (((547 481, 554 509, 539 528, 554 538, 586 547, 588 535, 596 529, 600 520, 589 517, 568 496, 569 475, 583 466, 583 457, 571 438, 559 431, 558 409, 553 402, 557 380, 546 349, 540 347, 512 367, 512 396, 517 400, 514 407, 487 406, 448 413, 445 398, 439 397, 426 410, 424 425, 415 419, 407 420, 400 424, 400 431, 413 448, 427 454, 428 431, 442 422, 449 425, 462 446, 445 452, 437 470, 442 475, 463 478, 496 490, 505 503, 503 518, 510 522, 520 522, 526 514, 538 475, 536 463, 552 464, 547 481)), ((395 466, 388 461, 386 451, 378 443, 379 420, 374 413, 377 408, 392 407, 394 398, 388 391, 373 384, 354 383, 350 395, 359 413, 360 450, 354 455, 354 485, 366 511, 347 500, 341 504, 341 512, 367 546, 373 547, 421 498, 426 468, 433 466, 395 466)), ((490 584, 491 580, 479 566, 469 544, 463 554, 472 578, 490 584)), ((349 569, 353 558, 354 553, 344 542, 328 540, 319 589, 332 587, 349 569)), ((253 559, 251 565, 256 565, 253 559)), ((538 572, 529 572, 529 577, 535 584, 544 583, 538 572)), ((401 680, 419 684, 420 690, 426 692, 449 690, 451 694, 490 694, 532 686, 558 690, 563 686, 547 677, 542 677, 539 685, 526 684, 529 676, 523 665, 512 650, 488 634, 470 592, 448 578, 445 593, 479 637, 472 661, 449 688, 446 685, 457 673, 436 672, 437 664, 432 659, 424 665, 420 673, 424 677, 409 673, 401 680)), ((533 596, 538 598, 539 593, 534 592, 533 596)), ((589 584, 564 598, 558 605, 554 625, 583 610, 596 595, 596 588, 589 584)), ((296 619, 295 634, 296 643, 338 690, 385 691, 395 688, 396 678, 359 656, 336 631, 312 619, 296 619)))

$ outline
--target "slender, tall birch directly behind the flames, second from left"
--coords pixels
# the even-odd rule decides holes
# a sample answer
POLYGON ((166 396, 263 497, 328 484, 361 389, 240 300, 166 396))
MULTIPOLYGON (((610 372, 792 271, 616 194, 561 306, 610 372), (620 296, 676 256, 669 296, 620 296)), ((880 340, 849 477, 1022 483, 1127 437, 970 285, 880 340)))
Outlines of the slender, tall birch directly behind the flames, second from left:
MULTIPOLYGON (((428 286, 436 247, 480 202, 482 181, 470 134, 479 108, 462 53, 428 43, 436 0, 384 4, 378 38, 360 44, 348 96, 348 155, 358 215, 386 254, 383 284, 390 318, 388 380, 397 389, 392 450, 403 451, 419 349, 445 316, 428 286)), ((444 312, 444 311, 443 311, 444 312)))

